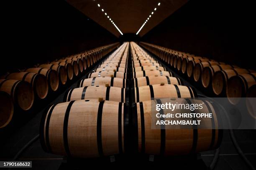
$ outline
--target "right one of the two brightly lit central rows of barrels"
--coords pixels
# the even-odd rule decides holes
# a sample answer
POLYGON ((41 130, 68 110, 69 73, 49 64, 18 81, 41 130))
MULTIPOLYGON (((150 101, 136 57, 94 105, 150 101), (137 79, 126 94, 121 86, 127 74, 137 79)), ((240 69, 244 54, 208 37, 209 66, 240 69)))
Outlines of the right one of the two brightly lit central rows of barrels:
MULTIPOLYGON (((216 128, 214 132, 205 129, 193 130, 193 128, 191 130, 151 128, 152 103, 165 103, 164 98, 171 98, 177 102, 177 98, 186 98, 180 99, 182 103, 199 102, 189 99, 197 97, 197 92, 192 87, 184 86, 179 78, 174 77, 172 72, 167 71, 166 67, 162 67, 134 42, 131 42, 131 54, 133 66, 131 85, 134 89, 130 90, 130 93, 135 102, 132 110, 135 115, 133 122, 137 125, 134 134, 138 135, 134 137, 136 139, 134 142, 138 146, 138 152, 150 155, 186 155, 218 148, 221 141, 218 123, 210 123, 210 126, 216 128), (205 138, 207 140, 204 140, 205 138)), ((159 54, 163 60, 168 60, 166 53, 159 54)), ((213 109, 209 102, 206 104, 209 105, 208 108, 213 109)), ((214 109, 212 111, 214 112, 214 109)))

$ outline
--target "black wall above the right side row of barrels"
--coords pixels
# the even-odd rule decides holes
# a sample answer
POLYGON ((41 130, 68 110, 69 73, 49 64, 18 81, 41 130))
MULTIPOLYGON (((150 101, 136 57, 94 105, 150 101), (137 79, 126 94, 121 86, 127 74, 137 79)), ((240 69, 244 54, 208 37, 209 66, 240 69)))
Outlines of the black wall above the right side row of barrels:
POLYGON ((256 69, 251 2, 190 0, 142 41, 256 69))

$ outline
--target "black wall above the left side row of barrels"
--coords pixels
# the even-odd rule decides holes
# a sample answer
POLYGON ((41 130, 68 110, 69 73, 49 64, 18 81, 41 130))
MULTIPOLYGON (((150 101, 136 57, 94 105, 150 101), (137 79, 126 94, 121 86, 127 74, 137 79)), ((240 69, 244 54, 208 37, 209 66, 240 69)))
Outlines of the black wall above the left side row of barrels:
POLYGON ((64 0, 9 1, 1 7, 1 73, 118 41, 64 0))

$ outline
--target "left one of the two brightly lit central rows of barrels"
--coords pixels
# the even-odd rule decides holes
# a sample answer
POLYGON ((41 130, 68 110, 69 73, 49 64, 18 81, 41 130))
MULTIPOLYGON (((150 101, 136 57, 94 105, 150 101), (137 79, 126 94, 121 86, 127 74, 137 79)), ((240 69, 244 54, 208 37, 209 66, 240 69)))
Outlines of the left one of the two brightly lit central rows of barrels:
POLYGON ((80 158, 125 152, 128 50, 129 43, 123 43, 77 88, 67 90, 62 103, 46 109, 40 133, 46 152, 80 158))

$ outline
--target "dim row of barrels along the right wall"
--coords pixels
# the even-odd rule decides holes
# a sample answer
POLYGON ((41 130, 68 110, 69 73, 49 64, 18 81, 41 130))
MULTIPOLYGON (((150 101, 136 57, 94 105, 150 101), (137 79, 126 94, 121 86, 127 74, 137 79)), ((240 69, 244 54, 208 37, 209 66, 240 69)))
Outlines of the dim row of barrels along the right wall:
POLYGON ((255 91, 253 90, 256 84, 256 73, 254 70, 240 68, 228 63, 171 50, 146 42, 141 42, 140 44, 174 70, 195 82, 198 87, 210 91, 212 96, 256 96, 255 93, 248 94, 248 91, 255 91), (249 90, 250 87, 251 89, 249 90))

